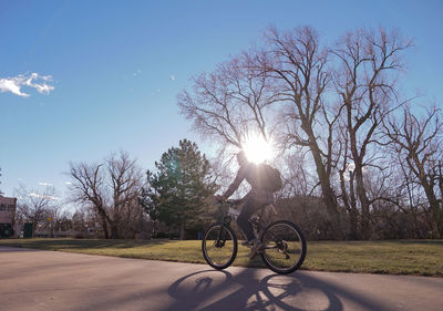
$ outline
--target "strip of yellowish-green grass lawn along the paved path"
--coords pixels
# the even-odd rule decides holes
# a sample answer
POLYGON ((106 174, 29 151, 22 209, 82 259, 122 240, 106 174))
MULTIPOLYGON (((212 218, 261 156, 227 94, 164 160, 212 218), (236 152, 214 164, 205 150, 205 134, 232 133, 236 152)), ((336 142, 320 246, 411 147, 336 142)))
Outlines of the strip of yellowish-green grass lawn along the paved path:
MULTIPOLYGON (((205 263, 200 241, 7 239, 0 246, 205 263)), ((239 245, 234 266, 265 267, 239 245)), ((443 240, 311 241, 301 269, 443 277, 443 240)))

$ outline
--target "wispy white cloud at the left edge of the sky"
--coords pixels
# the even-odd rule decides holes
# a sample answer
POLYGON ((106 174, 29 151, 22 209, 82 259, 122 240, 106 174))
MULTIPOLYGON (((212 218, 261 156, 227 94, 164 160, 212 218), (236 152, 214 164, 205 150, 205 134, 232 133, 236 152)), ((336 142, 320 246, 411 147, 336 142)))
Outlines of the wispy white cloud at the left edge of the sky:
POLYGON ((35 89, 40 94, 49 94, 55 89, 50 84, 51 82, 51 75, 39 75, 34 72, 11 77, 0 77, 0 92, 11 92, 22 97, 29 97, 30 95, 21 90, 23 86, 28 86, 35 89))

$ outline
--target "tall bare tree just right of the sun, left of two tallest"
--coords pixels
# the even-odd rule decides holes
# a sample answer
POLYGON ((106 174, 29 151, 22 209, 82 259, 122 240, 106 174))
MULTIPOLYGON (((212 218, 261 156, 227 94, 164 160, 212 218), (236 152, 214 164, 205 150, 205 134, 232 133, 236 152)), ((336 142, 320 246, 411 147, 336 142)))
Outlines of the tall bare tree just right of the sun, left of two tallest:
POLYGON ((284 146, 309 148, 330 226, 333 235, 340 237, 340 217, 331 185, 337 162, 332 153, 333 126, 338 115, 331 115, 324 103, 331 77, 328 51, 320 46, 317 32, 309 27, 286 33, 269 29, 267 43, 269 48, 257 54, 255 61, 274 79, 279 100, 287 104, 284 116, 288 132, 282 137, 284 146))

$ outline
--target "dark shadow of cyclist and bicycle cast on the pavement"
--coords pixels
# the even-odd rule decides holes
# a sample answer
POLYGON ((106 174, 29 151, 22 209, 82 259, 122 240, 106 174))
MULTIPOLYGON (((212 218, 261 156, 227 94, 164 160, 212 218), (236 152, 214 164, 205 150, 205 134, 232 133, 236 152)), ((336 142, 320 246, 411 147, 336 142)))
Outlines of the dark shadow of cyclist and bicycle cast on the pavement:
POLYGON ((168 289, 176 302, 167 310, 343 310, 330 286, 302 273, 266 274, 259 269, 203 270, 168 289), (262 278, 259 274, 264 274, 262 278))

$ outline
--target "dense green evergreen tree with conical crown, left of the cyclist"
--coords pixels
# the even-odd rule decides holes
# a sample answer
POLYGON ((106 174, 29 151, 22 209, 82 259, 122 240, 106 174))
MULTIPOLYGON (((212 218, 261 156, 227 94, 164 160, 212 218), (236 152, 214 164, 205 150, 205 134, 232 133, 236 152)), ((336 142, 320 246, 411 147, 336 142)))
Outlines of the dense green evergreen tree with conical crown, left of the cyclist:
POLYGON ((185 227, 199 219, 216 190, 209 162, 196 143, 183 139, 178 147, 164 153, 155 167, 157 172, 147 172, 148 187, 143 191, 142 205, 153 220, 179 225, 184 239, 185 227))

